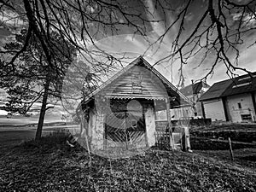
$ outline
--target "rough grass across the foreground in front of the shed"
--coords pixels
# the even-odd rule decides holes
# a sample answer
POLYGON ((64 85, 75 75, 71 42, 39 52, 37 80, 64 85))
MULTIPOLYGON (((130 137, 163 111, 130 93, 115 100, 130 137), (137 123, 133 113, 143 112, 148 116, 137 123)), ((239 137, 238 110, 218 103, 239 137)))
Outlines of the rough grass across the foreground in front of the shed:
MULTIPOLYGON (((212 154, 148 149, 109 160, 66 136, 0 149, 0 191, 256 191, 255 167, 212 154)), ((216 152, 217 153, 217 152, 216 152)))

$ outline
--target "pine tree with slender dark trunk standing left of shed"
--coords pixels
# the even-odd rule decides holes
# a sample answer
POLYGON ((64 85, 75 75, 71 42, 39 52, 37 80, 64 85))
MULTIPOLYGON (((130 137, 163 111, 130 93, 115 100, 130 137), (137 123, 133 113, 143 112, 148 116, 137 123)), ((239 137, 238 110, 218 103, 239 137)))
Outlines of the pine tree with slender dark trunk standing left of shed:
MULTIPOLYGON (((25 34, 26 30, 23 29, 20 34, 16 34, 14 42, 3 47, 9 51, 10 57, 26 44, 25 34)), ((50 38, 56 47, 49 65, 49 61, 42 54, 38 38, 33 35, 32 33, 26 50, 20 53, 17 61, 12 64, 15 70, 3 68, 2 73, 8 73, 8 76, 0 78, 0 87, 9 94, 9 102, 4 109, 12 113, 26 114, 35 102, 42 103, 36 133, 36 139, 39 139, 42 135, 44 115, 49 108, 53 108, 52 103, 48 105, 49 100, 55 99, 57 102, 61 99, 62 82, 76 56, 76 51, 67 42, 62 42, 58 33, 51 32, 50 38)))

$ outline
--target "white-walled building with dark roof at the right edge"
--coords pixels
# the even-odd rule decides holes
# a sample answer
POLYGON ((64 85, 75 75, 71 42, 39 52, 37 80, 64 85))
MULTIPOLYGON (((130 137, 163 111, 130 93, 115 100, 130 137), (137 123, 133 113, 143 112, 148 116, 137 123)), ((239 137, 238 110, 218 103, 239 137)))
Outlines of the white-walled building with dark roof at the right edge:
POLYGON ((199 101, 212 121, 255 121, 256 73, 227 79, 212 85, 199 101))

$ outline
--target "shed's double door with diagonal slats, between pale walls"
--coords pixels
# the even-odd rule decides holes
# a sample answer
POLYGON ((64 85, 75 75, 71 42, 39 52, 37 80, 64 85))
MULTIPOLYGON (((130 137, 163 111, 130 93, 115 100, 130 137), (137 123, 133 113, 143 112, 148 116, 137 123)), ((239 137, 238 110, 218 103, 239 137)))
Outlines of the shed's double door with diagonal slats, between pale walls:
POLYGON ((130 150, 147 147, 143 108, 137 108, 138 105, 135 108, 131 105, 129 107, 129 103, 131 104, 131 101, 119 102, 119 109, 106 115, 104 125, 105 148, 130 150))

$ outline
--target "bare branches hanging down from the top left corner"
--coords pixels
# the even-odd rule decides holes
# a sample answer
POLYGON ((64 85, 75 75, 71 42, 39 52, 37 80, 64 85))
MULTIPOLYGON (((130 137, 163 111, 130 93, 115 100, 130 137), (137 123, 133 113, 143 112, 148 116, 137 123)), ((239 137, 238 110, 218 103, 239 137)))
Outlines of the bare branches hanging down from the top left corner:
MULTIPOLYGON (((9 16, 9 20, 22 20, 28 28, 26 43, 6 65, 12 65, 17 56, 26 49, 31 33, 38 37, 44 55, 50 62, 50 58, 55 55, 51 49, 54 42, 49 38, 51 31, 61 34, 61 38, 72 44, 87 62, 94 64, 93 66, 98 62, 95 59, 97 55, 105 55, 108 61, 114 61, 112 55, 97 49, 95 41, 108 37, 109 34, 119 34, 119 30, 124 26, 130 27, 131 33, 145 36, 150 22, 138 10, 144 8, 143 3, 140 3, 141 8, 134 9, 126 1, 108 3, 108 1, 92 0, 24 0, 20 2, 21 4, 16 1, 1 2, 5 17, 9 16), (95 45, 97 51, 89 48, 91 44, 95 45)), ((7 26, 11 30, 17 27, 15 24, 7 26)), ((6 52, 2 51, 2 53, 6 52)))

